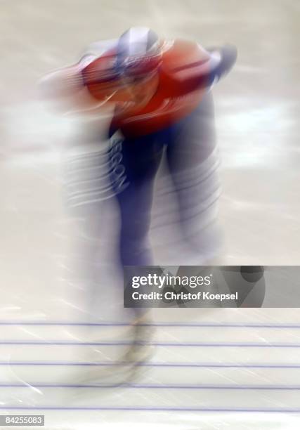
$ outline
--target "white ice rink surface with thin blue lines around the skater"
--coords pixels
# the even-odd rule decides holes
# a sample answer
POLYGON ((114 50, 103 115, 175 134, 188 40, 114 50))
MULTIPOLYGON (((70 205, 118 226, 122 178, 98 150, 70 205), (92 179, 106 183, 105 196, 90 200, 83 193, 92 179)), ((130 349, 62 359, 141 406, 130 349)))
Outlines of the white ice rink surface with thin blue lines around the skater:
POLYGON ((58 118, 35 84, 131 25, 237 46, 214 90, 218 263, 299 262, 296 0, 2 1, 0 412, 44 414, 46 429, 298 429, 296 308, 155 310, 153 355, 135 382, 78 387, 129 341, 122 294, 106 288, 114 203, 74 212, 65 199, 68 162, 99 150, 106 119, 58 118))

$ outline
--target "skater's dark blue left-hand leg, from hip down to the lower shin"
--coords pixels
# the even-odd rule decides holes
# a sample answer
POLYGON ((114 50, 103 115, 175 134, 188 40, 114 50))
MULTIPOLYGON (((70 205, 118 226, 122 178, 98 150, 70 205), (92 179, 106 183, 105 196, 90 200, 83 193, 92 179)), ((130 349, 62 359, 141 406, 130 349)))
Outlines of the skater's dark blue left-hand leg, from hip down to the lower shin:
MULTIPOLYGON (((120 213, 119 261, 122 268, 152 265, 148 233, 155 175, 162 153, 160 133, 143 138, 119 139, 110 148, 110 176, 120 213)), ((138 275, 141 275, 141 269, 138 275)), ((147 344, 153 330, 146 309, 133 308, 132 317, 132 345, 121 361, 131 363, 131 369, 136 372, 138 363, 147 360, 152 352, 147 344)))

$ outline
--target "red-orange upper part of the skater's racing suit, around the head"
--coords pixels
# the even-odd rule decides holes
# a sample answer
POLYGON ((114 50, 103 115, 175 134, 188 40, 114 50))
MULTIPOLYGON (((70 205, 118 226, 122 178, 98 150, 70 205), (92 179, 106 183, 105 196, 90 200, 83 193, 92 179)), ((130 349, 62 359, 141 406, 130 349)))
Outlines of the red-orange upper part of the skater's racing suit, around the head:
MULTIPOLYGON (((109 51, 82 70, 84 83, 97 100, 130 102, 122 79, 113 70, 115 52, 109 51), (100 79, 98 77, 101 77, 100 79)), ((143 136, 170 126, 193 112, 210 82, 214 58, 195 42, 176 40, 162 51, 158 86, 146 105, 131 105, 112 119, 124 136, 143 136)), ((147 83, 145 83, 146 85, 147 83)))

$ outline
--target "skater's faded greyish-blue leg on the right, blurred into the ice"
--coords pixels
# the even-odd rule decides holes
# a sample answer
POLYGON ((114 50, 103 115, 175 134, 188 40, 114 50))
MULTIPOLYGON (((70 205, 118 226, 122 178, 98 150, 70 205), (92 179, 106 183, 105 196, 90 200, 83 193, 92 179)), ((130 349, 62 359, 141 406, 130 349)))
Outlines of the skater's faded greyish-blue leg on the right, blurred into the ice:
POLYGON ((203 257, 204 260, 211 258, 220 241, 214 225, 220 183, 211 93, 204 96, 189 117, 175 124, 172 131, 167 163, 178 200, 181 231, 188 246, 203 261, 203 257))

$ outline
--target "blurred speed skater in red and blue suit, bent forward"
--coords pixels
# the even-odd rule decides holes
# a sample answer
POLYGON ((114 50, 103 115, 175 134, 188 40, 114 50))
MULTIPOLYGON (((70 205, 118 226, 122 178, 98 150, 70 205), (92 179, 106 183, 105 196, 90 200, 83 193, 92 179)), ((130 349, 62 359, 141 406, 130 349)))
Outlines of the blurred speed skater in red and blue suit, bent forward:
MULTIPOLYGON (((113 107, 107 130, 111 188, 105 188, 103 200, 114 195, 119 206, 121 267, 153 264, 151 209, 164 153, 178 225, 188 247, 202 251, 219 195, 211 87, 236 56, 233 46, 206 50, 194 41, 162 40, 148 28, 134 27, 119 39, 93 44, 77 65, 43 80, 48 96, 66 98, 77 110, 101 115, 113 107)), ((132 361, 143 359, 141 344, 149 330, 145 313, 133 313, 133 347, 126 356, 132 361)))

